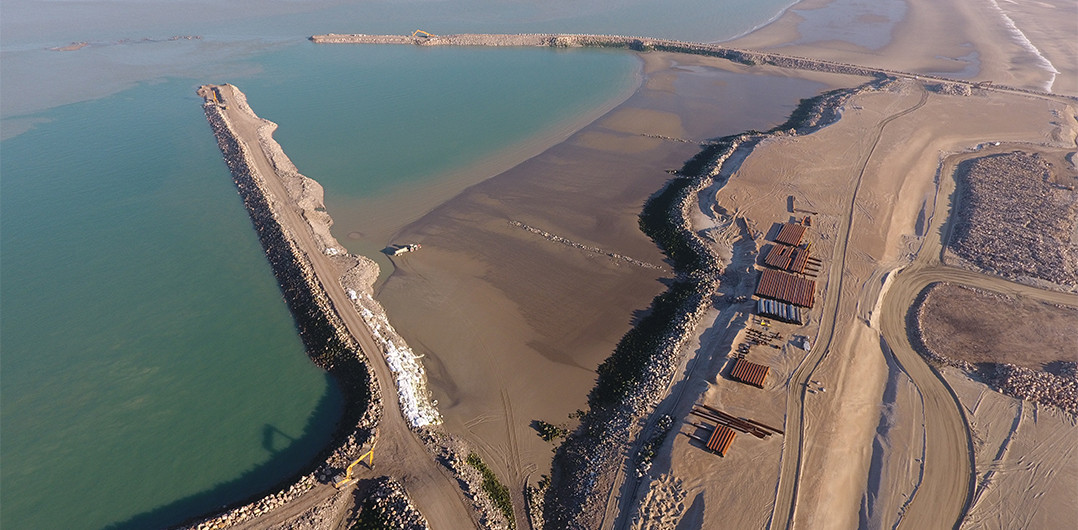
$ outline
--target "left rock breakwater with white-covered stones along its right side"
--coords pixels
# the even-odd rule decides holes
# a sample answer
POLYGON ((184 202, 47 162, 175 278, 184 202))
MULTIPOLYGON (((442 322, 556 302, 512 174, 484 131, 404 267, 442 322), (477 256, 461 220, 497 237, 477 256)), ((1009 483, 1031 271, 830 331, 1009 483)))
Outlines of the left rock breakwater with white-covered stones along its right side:
MULTIPOLYGON (((301 175, 280 145, 273 140, 276 124, 258 118, 248 107, 243 93, 231 85, 205 86, 199 89, 199 95, 206 98, 204 109, 207 120, 280 283, 285 299, 292 310, 307 352, 312 360, 341 382, 346 393, 347 409, 338 428, 336 442, 323 451, 322 460, 312 465, 313 471, 262 499, 202 519, 186 528, 227 528, 250 521, 316 488, 322 488, 318 494, 326 499, 320 505, 324 507, 327 502, 335 502, 333 499, 338 494, 328 484, 355 461, 364 443, 374 440, 383 413, 382 396, 372 366, 368 364, 367 357, 357 344, 357 337, 337 310, 356 310, 375 347, 382 350, 386 365, 395 377, 401 414, 407 420, 406 426, 426 447, 427 454, 419 458, 432 458, 431 465, 438 465, 434 462, 437 460, 453 473, 484 528, 508 528, 508 521, 482 489, 483 477, 471 466, 462 465, 467 455, 472 451, 461 441, 438 429, 441 417, 427 391, 426 375, 419 358, 392 329, 385 309, 371 296, 372 285, 378 275, 377 265, 367 257, 348 254, 333 238, 330 233, 332 219, 322 203, 322 189, 314 180, 301 175), (235 107, 240 112, 239 120, 246 121, 246 115, 249 115, 260 124, 255 149, 260 149, 265 154, 266 162, 273 166, 273 182, 279 182, 284 196, 275 195, 272 186, 267 186, 262 173, 255 169, 257 164, 262 161, 255 161, 248 152, 250 148, 240 139, 236 124, 231 123, 230 114, 225 112, 222 88, 227 88, 227 108, 235 107), (299 213, 302 221, 295 222, 292 213, 299 213), (291 218, 292 221, 285 222, 282 217, 291 218), (298 238, 292 231, 305 232, 298 238), (329 262, 331 270, 327 273, 322 267, 319 276, 309 252, 318 254, 316 259, 319 264, 329 262), (331 283, 324 284, 324 281, 331 283), (341 290, 334 291, 338 296, 336 305, 327 289, 341 290), (350 304, 343 303, 343 294, 347 294, 350 304)), ((388 504, 399 504, 396 499, 404 496, 403 488, 399 484, 390 487, 393 488, 395 492, 387 493, 383 499, 388 504)), ((400 511, 392 508, 390 512, 400 511)))

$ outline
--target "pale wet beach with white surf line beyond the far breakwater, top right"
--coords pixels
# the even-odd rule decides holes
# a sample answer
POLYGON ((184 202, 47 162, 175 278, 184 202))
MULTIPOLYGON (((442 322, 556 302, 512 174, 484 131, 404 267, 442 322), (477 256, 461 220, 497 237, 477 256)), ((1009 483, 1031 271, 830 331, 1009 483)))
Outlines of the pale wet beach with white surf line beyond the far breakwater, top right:
MULTIPOLYGON (((881 2, 904 17, 866 13, 858 0, 805 0, 725 44, 855 65, 1078 95, 1074 2, 881 2), (805 24, 806 20, 823 20, 805 24)), ((876 8, 881 9, 881 8, 876 8)))

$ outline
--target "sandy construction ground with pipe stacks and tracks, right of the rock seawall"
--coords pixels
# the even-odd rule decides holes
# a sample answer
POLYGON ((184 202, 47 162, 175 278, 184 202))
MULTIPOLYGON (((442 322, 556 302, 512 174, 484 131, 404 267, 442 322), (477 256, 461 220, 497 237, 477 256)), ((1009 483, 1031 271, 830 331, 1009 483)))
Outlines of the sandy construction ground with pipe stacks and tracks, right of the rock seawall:
MULTIPOLYGON (((649 486, 638 496, 640 513, 682 499, 680 520, 722 520, 728 527, 853 528, 901 521, 915 528, 941 520, 950 526, 963 519, 984 521, 999 510, 1025 514, 1005 517, 1015 525, 1019 520, 1037 520, 1041 527, 1061 524, 1062 516, 1048 506, 1064 502, 1063 491, 1075 492, 1062 480, 1078 476, 1078 470, 1060 460, 1073 457, 1075 447, 1060 436, 1073 434, 1076 423, 1073 413, 1066 413, 1069 402, 1039 396, 1069 395, 1066 389, 1078 380, 1073 340, 1067 344, 1073 333, 1063 331, 1067 327, 1063 322, 1074 318, 1078 298, 1060 288, 1019 285, 985 275, 998 270, 999 276, 1011 277, 1013 273, 1001 265, 963 270, 941 264, 946 243, 940 239, 952 231, 949 220, 956 186, 985 193, 977 186, 1004 185, 999 183, 1008 181, 1008 168, 1013 166, 1025 171, 1032 184, 1022 192, 996 195, 1028 194, 1039 186, 1055 197, 1072 193, 1066 189, 1069 181, 1046 173, 1048 162, 1056 169, 1068 168, 1067 173, 1074 173, 1073 164, 1060 156, 1063 151, 1053 149, 1039 150, 1039 156, 1028 151, 1011 156, 1010 165, 1003 164, 1007 156, 993 157, 1014 150, 1006 142, 983 140, 985 130, 1003 136, 1013 130, 1009 122, 1023 120, 1009 112, 1007 118, 996 116, 980 127, 963 129, 958 136, 964 140, 957 144, 968 151, 937 165, 921 156, 922 150, 954 149, 955 143, 948 143, 956 142, 954 138, 917 149, 895 145, 914 130, 943 127, 938 115, 973 112, 976 101, 930 95, 912 82, 860 94, 853 101, 834 125, 798 139, 771 138, 756 145, 729 182, 708 191, 716 195, 717 206, 707 209, 744 220, 758 251, 747 266, 735 259, 731 267, 736 270, 728 269, 724 276, 738 284, 730 288, 731 298, 719 302, 714 325, 702 331, 694 345, 696 361, 706 363, 707 369, 695 372, 705 375, 691 385, 690 392, 699 394, 679 409, 685 414, 680 434, 671 442, 669 458, 657 459, 649 486), (889 113, 863 111, 883 101, 889 113), (820 149, 846 144, 854 148, 842 159, 820 149), (876 149, 881 145, 888 150, 876 149), (806 159, 814 164, 806 165, 806 159), (987 162, 967 163, 956 173, 956 166, 968 159, 987 162), (993 168, 995 176, 969 183, 978 171, 993 168), (932 178, 937 173, 946 176, 939 185, 932 178), (937 287, 918 298, 927 285, 941 281, 953 287, 937 287), (920 323, 918 315, 924 315, 920 323), (1006 334, 1023 316, 1040 320, 1021 326, 1029 333, 1014 340, 1027 343, 1024 349, 1013 354, 989 346, 962 351, 968 348, 958 338, 959 330, 987 325, 1006 334), (971 319, 983 325, 970 324, 971 319), (921 345, 917 350, 918 345, 910 344, 918 329, 928 330, 923 340, 934 345, 931 349, 921 345), (962 361, 934 359, 931 350, 951 351, 962 361), (1029 353, 1021 353, 1025 350, 1029 353), (976 367, 984 362, 1001 368, 981 374, 976 367), (1036 410, 1041 413, 1040 423, 1031 419, 1036 410), (737 436, 749 432, 737 426, 757 423, 784 432, 737 436), (1001 426, 1019 426, 1031 437, 1012 443, 1010 431, 1001 426), (971 446, 956 440, 981 440, 984 445, 970 451, 971 446), (1000 468, 1020 458, 1061 473, 1036 477, 1032 470, 1000 468), (1029 480, 1036 491, 1014 497, 1022 499, 1021 504, 1008 500, 1008 490, 994 487, 1014 487, 1017 480, 1029 480), (967 490, 969 497, 951 493, 967 490), (972 508, 967 502, 973 503, 972 508), (714 506, 722 506, 721 512, 714 506)), ((1046 104, 1019 101, 1013 100, 1031 113, 1044 112, 1046 104)), ((1068 123, 1069 128, 1053 134, 1072 138, 1078 128, 1068 123)), ((992 240, 991 248, 1038 240, 1036 231, 1044 227, 1052 237, 1074 233, 1069 221, 1027 215, 1024 209, 1015 212, 1013 228, 990 220, 1008 217, 1011 210, 969 213, 964 205, 958 222, 973 228, 955 228, 963 232, 953 245, 980 245, 987 251, 989 243, 975 241, 970 247, 971 237, 989 240, 977 226, 994 226, 992 237, 999 242, 992 240), (1023 221, 1026 218, 1028 222, 1023 221), (1026 236, 1014 239, 1008 235, 1013 229, 1025 231, 1026 236)), ((1070 219, 1069 207, 1066 210, 1064 217, 1070 219)), ((708 218, 720 222, 706 210, 697 215, 701 223, 708 218)), ((1058 248, 1054 245, 1045 248, 1058 248)), ((1065 263, 1059 255, 1074 249, 1060 245, 1066 248, 1041 253, 1051 270, 1066 269, 1059 265, 1065 263)), ((1034 248, 1032 242, 1027 247, 1034 248)), ((985 255, 1006 261, 999 252, 985 255)), ((1018 261, 1031 271, 1028 277, 1045 269, 1036 264, 1037 255, 1031 252, 1018 261)), ((1059 275, 1041 277, 1056 285, 1068 282, 1059 275)), ((993 335, 990 331, 985 330, 986 340, 993 335)))

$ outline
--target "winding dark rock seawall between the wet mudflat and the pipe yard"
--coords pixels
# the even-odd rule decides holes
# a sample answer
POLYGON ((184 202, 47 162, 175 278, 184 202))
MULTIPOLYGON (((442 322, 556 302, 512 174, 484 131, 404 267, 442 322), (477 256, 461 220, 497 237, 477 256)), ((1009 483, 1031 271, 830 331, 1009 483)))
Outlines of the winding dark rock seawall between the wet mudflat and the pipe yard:
POLYGON ((640 432, 644 420, 666 394, 683 345, 719 291, 723 262, 692 225, 701 192, 716 182, 723 164, 740 147, 771 136, 821 128, 839 118, 841 106, 852 95, 884 84, 875 81, 825 93, 802 100, 786 123, 770 131, 718 139, 689 159, 677 177, 648 200, 640 213, 640 228, 669 257, 677 277, 599 365, 588 413, 557 448, 541 503, 544 528, 600 526, 607 493, 619 487, 619 470, 624 466, 631 442, 647 435, 640 432))

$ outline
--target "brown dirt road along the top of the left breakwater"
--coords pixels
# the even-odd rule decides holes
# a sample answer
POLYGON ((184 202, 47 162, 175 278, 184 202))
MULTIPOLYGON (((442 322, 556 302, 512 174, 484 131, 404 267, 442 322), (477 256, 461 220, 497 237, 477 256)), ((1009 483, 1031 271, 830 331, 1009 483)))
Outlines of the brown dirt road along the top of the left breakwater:
MULTIPOLYGON (((238 89, 232 85, 215 86, 221 90, 225 101, 243 99, 237 97, 238 89)), ((270 199, 270 203, 281 205, 278 208, 280 221, 291 228, 296 245, 306 253, 333 307, 341 316, 348 332, 356 337, 362 351, 370 358, 370 365, 374 369, 378 381, 378 391, 385 403, 385 413, 377 429, 378 451, 374 470, 368 472, 370 476, 363 476, 361 473, 360 478, 390 475, 399 479, 427 520, 437 521, 431 525, 432 528, 475 528, 476 522, 472 510, 466 503, 456 479, 434 461, 433 456, 416 434, 409 429, 406 421, 400 414, 397 389, 393 388, 392 383, 396 377, 382 359, 382 350, 375 344, 371 331, 353 306, 348 294, 341 287, 340 273, 322 254, 306 220, 290 201, 284 200, 289 197, 288 192, 278 179, 268 156, 260 148, 258 140, 259 128, 266 125, 267 122, 257 116, 246 104, 230 104, 224 109, 224 114, 234 129, 237 141, 246 145, 253 158, 252 169, 258 171, 265 181, 267 191, 275 195, 274 198, 270 199)), ((327 494, 321 489, 316 489, 313 492, 319 491, 321 494, 327 494)), ((301 503, 292 504, 299 505, 301 503)), ((291 506, 286 506, 281 510, 290 508, 291 506)))

